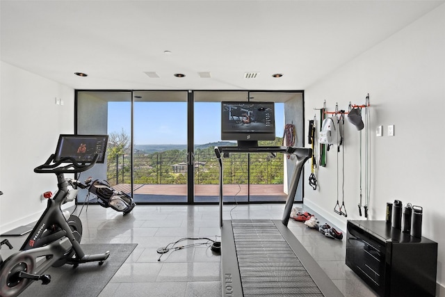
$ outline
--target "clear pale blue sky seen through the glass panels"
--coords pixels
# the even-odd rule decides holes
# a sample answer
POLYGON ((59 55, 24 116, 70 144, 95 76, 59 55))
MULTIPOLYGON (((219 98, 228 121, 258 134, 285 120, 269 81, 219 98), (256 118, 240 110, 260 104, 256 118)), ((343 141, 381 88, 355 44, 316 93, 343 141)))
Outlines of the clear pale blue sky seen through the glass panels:
MULTIPOLYGON (((220 102, 195 102, 195 144, 220 141, 220 102)), ((283 136, 284 104, 275 103, 276 135, 283 136)), ((131 103, 108 102, 108 134, 131 131, 131 103)), ((134 102, 134 143, 187 143, 186 102, 134 102)))

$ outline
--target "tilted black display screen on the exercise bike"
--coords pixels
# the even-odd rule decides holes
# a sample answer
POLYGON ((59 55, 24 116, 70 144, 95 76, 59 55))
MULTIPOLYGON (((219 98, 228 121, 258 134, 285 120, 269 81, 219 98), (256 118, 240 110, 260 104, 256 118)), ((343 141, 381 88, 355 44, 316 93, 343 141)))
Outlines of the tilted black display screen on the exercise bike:
POLYGON ((79 163, 90 163, 98 154, 96 163, 104 163, 108 135, 61 134, 58 138, 54 161, 70 156, 79 163))

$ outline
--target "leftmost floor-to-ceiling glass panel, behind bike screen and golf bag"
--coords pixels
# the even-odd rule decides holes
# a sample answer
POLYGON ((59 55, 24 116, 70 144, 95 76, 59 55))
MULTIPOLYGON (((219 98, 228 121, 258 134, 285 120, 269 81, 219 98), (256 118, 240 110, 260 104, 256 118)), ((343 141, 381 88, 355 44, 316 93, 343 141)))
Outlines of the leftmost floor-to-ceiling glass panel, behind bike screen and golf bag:
MULTIPOLYGON (((108 134, 107 158, 96 164, 79 179, 105 179, 112 186, 122 185, 119 191, 131 194, 131 92, 130 91, 77 91, 76 133, 108 134)), ((81 190, 77 200, 89 197, 81 190)))

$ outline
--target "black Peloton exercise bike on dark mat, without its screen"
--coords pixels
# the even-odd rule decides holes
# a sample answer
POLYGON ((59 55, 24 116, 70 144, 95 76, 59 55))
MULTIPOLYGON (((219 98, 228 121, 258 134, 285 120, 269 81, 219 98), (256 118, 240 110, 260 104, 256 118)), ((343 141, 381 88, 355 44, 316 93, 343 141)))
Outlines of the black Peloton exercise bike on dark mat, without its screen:
MULTIPOLYGON (((49 284, 51 276, 44 272, 51 266, 72 264, 76 267, 86 262, 102 265, 108 259, 109 251, 96 255, 83 252, 81 220, 61 209, 63 203, 74 200, 78 191, 76 180, 65 178, 64 174, 86 171, 95 166, 98 157, 95 154, 88 163, 79 163, 73 156, 56 158, 56 154, 51 154, 43 165, 34 169, 36 173, 56 174, 58 191, 48 198, 47 208, 19 251, 4 262, 0 256, 1 297, 17 296, 36 280, 49 284)), ((12 248, 10 243, 4 244, 12 248)))

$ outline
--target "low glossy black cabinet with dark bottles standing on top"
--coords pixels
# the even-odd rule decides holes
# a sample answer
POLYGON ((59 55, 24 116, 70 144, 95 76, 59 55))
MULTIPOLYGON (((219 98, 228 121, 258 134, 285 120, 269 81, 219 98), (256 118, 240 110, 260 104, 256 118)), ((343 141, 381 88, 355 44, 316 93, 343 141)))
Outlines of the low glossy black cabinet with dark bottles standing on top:
POLYGON ((380 296, 435 296, 437 243, 385 220, 348 220, 346 265, 380 296))

